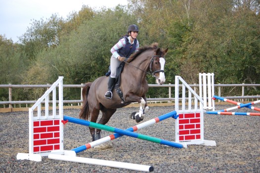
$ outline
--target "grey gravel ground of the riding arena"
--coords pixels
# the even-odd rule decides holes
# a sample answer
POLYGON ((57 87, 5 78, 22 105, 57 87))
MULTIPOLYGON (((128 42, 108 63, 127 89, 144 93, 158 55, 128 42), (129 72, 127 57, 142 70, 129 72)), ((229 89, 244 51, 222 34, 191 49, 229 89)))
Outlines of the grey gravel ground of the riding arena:
MULTIPOLYGON (((217 110, 232 107, 217 105, 217 110)), ((121 108, 108 126, 128 129, 136 125, 129 118, 138 108, 121 108)), ((173 111, 172 106, 150 107, 146 120, 173 111)), ((65 109, 64 115, 78 117, 79 109, 65 109)), ((247 108, 239 110, 250 111, 247 108)), ((254 111, 250 111, 254 112, 254 111)), ((78 153, 79 157, 151 165, 155 173, 260 173, 260 116, 209 115, 204 118, 204 138, 217 146, 188 145, 172 148, 128 136, 112 140, 101 148, 78 153)), ((138 133, 175 140, 174 119, 159 122, 138 133)), ((102 137, 111 132, 101 132, 102 137)), ((17 153, 29 152, 28 112, 0 113, 0 173, 135 173, 89 164, 49 160, 16 160, 17 153)), ((64 149, 91 142, 87 127, 66 124, 64 149)))

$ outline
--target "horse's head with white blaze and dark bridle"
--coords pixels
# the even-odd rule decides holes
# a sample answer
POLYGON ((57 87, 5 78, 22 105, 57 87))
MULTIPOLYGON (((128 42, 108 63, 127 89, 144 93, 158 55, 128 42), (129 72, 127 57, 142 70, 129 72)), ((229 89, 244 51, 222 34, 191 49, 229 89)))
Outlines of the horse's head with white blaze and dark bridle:
POLYGON ((157 48, 155 55, 152 57, 150 62, 150 72, 156 79, 156 83, 162 85, 165 83, 164 66, 165 66, 165 55, 168 48, 163 50, 157 48))

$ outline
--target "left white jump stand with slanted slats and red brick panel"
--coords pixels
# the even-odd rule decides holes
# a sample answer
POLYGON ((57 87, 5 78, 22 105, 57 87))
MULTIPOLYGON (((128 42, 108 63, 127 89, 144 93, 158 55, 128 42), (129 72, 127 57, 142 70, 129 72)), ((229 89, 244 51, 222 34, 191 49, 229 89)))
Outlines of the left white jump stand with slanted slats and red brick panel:
POLYGON ((42 156, 50 153, 65 154, 63 150, 63 77, 43 94, 29 108, 29 153, 18 153, 18 160, 42 161, 42 156), (59 87, 59 114, 56 115, 56 87, 59 87), (52 115, 49 115, 49 96, 52 93, 52 115), (41 103, 45 101, 45 114, 42 115, 41 103), (34 111, 37 115, 34 115, 34 111))

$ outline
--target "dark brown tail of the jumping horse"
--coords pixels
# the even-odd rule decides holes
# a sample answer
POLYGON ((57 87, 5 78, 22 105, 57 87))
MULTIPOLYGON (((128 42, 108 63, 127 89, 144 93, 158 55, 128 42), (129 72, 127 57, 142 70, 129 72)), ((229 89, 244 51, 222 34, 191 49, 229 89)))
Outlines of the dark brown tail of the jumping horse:
POLYGON ((87 83, 82 89, 82 96, 83 96, 83 106, 81 108, 81 112, 79 117, 81 119, 87 120, 90 113, 89 113, 89 107, 88 107, 88 102, 87 102, 87 96, 88 96, 88 91, 92 83, 87 83))

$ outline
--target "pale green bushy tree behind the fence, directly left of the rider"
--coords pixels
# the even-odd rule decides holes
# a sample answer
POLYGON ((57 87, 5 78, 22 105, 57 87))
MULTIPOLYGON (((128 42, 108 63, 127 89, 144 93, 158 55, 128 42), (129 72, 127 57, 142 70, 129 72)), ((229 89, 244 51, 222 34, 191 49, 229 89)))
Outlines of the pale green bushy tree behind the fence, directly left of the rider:
MULTIPOLYGON (((38 53, 24 83, 45 83, 64 76, 64 83, 81 84, 104 76, 111 47, 132 23, 135 18, 123 6, 97 11, 92 20, 86 20, 77 30, 61 37, 57 47, 38 53)), ((65 93, 64 97, 73 95, 65 93)))

